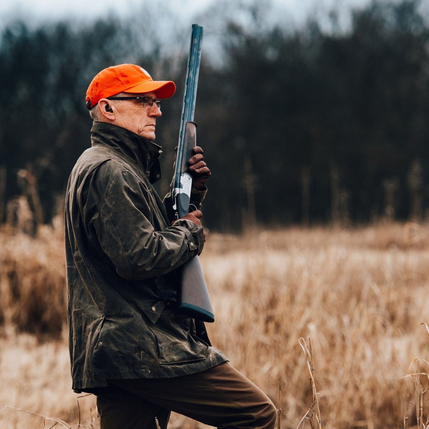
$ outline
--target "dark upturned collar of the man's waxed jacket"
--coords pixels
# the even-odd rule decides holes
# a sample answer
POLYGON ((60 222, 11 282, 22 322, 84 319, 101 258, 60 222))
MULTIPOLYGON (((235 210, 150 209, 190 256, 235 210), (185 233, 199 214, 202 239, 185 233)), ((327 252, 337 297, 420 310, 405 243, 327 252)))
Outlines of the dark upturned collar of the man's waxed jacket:
POLYGON ((117 125, 94 121, 91 128, 91 146, 97 145, 109 146, 127 161, 139 166, 148 175, 151 183, 160 180, 161 146, 117 125))

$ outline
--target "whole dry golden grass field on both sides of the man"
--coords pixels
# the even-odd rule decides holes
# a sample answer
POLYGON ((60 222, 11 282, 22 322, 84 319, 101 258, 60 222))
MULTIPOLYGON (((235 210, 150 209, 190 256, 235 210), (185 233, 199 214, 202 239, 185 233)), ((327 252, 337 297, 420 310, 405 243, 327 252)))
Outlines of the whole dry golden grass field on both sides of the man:
MULTIPOLYGON (((70 388, 63 232, 54 225, 36 238, 0 230, 0 404, 73 429, 80 415, 81 427, 98 428, 94 396, 70 388)), ((311 406, 299 345, 308 336, 323 428, 403 428, 407 413, 407 427, 417 427, 414 378, 405 376, 417 356, 429 360, 419 326, 429 323, 427 226, 211 234, 201 261, 215 309, 211 341, 276 405, 281 384, 282 428, 295 429, 311 406)), ((2 429, 54 423, 0 407, 2 429)), ((169 428, 179 427, 203 426, 172 416, 169 428)))

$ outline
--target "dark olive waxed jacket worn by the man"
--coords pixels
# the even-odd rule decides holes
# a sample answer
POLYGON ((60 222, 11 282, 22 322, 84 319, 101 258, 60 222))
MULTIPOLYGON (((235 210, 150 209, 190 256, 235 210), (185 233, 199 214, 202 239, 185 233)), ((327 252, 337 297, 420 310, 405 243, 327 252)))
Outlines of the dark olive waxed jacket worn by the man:
MULTIPOLYGON (((161 177, 160 146, 103 122, 94 122, 91 133, 65 207, 73 389, 187 375, 225 362, 197 332, 199 322, 175 310, 175 269, 202 251, 204 239, 191 221, 169 226, 152 186, 161 177)), ((191 196, 197 206, 202 197, 191 196)))

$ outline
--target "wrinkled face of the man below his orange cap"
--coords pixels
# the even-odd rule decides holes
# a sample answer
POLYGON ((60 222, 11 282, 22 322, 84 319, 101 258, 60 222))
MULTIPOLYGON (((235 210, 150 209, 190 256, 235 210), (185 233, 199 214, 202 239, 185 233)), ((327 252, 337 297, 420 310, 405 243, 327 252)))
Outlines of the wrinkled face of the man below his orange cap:
MULTIPOLYGON (((151 97, 156 100, 155 93, 145 94, 121 94, 127 97, 151 97)), ((161 116, 161 111, 155 103, 152 107, 143 107, 142 100, 112 100, 115 104, 115 125, 126 128, 148 140, 155 139, 156 118, 161 116)))

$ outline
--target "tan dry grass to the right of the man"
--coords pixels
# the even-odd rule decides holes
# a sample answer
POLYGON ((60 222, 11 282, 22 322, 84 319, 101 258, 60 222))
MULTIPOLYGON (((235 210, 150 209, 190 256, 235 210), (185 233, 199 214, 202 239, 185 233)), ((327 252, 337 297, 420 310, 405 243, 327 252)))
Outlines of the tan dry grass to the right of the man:
POLYGON ((418 326, 429 316, 428 247, 403 237, 402 225, 290 229, 202 256, 215 344, 272 398, 281 382, 290 427, 311 403, 298 344, 307 335, 325 427, 402 425, 412 385, 401 377, 429 356, 418 326))

